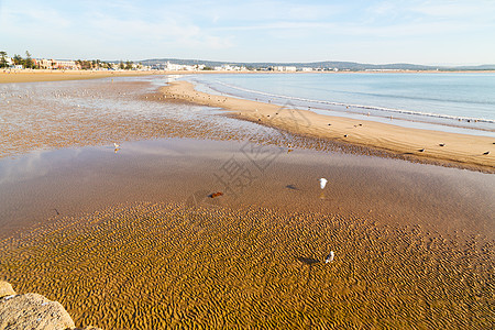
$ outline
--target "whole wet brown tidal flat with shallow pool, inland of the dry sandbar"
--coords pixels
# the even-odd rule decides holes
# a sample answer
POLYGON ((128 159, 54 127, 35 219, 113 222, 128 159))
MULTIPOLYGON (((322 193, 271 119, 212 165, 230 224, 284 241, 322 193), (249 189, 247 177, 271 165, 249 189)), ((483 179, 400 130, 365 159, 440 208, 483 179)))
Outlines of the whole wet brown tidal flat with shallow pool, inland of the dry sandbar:
POLYGON ((76 324, 493 322, 492 174, 169 103, 152 81, 61 84, 4 92, 4 128, 25 129, 0 133, 0 276, 76 324), (234 165, 243 186, 224 185, 234 165))

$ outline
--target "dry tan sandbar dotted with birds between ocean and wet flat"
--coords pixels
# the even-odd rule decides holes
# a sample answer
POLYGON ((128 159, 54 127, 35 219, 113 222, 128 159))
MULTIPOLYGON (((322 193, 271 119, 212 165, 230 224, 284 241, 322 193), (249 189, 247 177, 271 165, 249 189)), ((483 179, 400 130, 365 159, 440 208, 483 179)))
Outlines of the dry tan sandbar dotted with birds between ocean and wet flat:
POLYGON ((188 81, 174 81, 160 91, 168 99, 221 108, 239 119, 309 138, 328 139, 385 151, 396 156, 495 173, 495 141, 487 136, 402 128, 394 124, 318 114, 278 105, 209 95, 188 81), (443 144, 443 145, 441 145, 443 144), (484 154, 490 152, 490 154, 484 154))

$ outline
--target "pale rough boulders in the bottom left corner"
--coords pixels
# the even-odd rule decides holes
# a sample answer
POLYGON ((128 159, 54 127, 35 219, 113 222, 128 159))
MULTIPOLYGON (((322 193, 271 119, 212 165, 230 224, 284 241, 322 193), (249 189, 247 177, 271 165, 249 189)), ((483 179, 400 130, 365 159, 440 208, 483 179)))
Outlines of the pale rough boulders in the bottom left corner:
POLYGON ((0 282, 0 330, 36 329, 66 330, 76 328, 65 308, 37 294, 16 295, 7 282, 0 282))

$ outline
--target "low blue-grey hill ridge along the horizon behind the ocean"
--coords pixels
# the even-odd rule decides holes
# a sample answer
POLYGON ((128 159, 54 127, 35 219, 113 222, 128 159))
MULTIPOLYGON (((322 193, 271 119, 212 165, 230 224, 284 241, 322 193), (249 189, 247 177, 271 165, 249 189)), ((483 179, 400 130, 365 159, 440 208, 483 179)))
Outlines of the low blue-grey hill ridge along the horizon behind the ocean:
POLYGON ((164 65, 167 62, 173 64, 182 65, 200 65, 204 64, 209 67, 222 66, 226 64, 232 66, 245 66, 248 68, 268 68, 272 66, 296 66, 310 67, 310 68, 337 68, 339 70, 366 70, 366 69, 400 69, 400 70, 493 70, 495 65, 480 65, 480 66, 459 66, 459 67, 448 67, 448 66, 427 66, 427 65, 416 65, 407 63, 395 63, 395 64, 363 64, 356 62, 311 62, 311 63, 277 63, 277 62, 262 62, 262 63, 245 63, 245 62, 220 62, 220 61, 202 61, 202 59, 179 59, 179 58, 153 58, 140 61, 143 65, 164 65))

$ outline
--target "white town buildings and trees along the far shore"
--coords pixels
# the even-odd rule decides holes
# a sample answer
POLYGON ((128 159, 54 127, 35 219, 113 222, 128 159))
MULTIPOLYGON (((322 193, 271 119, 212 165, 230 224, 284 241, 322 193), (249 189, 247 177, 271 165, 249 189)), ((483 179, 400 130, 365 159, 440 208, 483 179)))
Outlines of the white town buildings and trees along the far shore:
POLYGON ((168 70, 168 72, 201 72, 201 70, 218 70, 218 72, 338 72, 339 68, 331 67, 297 67, 297 66, 266 66, 266 67, 248 67, 233 64, 222 64, 220 66, 207 66, 205 64, 176 64, 169 61, 164 63, 155 63, 153 65, 143 65, 142 63, 134 63, 132 61, 120 62, 103 62, 100 59, 82 61, 82 59, 47 59, 34 58, 29 52, 25 52, 25 57, 21 55, 13 55, 9 57, 7 52, 0 52, 0 69, 50 69, 50 70, 168 70))

